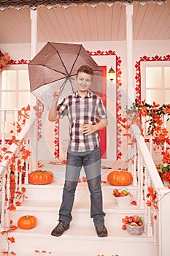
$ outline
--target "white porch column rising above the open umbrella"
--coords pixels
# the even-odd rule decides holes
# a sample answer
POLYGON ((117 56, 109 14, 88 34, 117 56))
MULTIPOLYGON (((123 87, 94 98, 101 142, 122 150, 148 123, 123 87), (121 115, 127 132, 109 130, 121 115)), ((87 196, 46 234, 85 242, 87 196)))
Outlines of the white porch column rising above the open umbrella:
POLYGON ((36 56, 37 52, 37 11, 30 9, 31 18, 31 59, 36 56))

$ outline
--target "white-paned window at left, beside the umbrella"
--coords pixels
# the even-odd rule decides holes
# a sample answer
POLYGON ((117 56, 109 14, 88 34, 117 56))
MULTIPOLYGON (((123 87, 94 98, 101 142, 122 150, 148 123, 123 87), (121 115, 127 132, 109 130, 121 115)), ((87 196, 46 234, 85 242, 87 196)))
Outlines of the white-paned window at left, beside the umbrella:
POLYGON ((6 111, 5 133, 13 129, 14 110, 30 104, 27 64, 9 65, 0 74, 0 108, 6 111))

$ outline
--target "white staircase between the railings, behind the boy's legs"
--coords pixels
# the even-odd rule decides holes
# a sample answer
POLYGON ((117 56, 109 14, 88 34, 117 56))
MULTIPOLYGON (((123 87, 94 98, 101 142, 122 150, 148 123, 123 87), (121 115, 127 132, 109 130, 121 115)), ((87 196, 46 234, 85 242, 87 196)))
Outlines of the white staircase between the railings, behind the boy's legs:
MULTIPOLYGON (((65 165, 63 165, 65 168, 65 165)), ((107 181, 107 174, 112 171, 104 170, 102 181, 107 181)), ((63 170, 64 172, 64 170, 63 170)), ((69 230, 61 237, 50 235, 53 227, 58 223, 58 210, 61 204, 63 181, 54 178, 48 185, 27 184, 26 199, 17 211, 12 212, 11 219, 17 225, 18 219, 24 215, 34 215, 37 225, 31 230, 15 230, 10 236, 15 237, 15 243, 10 244, 9 251, 17 256, 52 255, 52 256, 155 256, 152 236, 145 233, 142 236, 131 236, 127 230, 122 230, 122 218, 125 215, 138 214, 143 217, 143 210, 138 206, 118 208, 112 197, 115 188, 107 183, 102 183, 105 224, 109 236, 98 238, 90 219, 90 195, 86 182, 77 185, 77 191, 72 210, 73 220, 69 230)), ((128 186, 136 200, 136 187, 128 186)), ((0 237, 1 251, 7 250, 7 241, 0 237)))

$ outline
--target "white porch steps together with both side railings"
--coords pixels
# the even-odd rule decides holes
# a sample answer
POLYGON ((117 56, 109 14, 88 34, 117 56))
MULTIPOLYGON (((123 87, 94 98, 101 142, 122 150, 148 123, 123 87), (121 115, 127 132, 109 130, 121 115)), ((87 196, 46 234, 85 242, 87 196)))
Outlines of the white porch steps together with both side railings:
MULTIPOLYGON (((42 170, 52 170, 54 179, 51 184, 34 185, 28 183, 28 173, 34 171, 34 155, 23 159, 23 147, 31 151, 31 143, 28 139, 30 132, 36 131, 36 115, 28 119, 21 132, 18 133, 15 142, 8 146, 1 161, 1 231, 10 230, 11 225, 17 226, 18 219, 22 216, 33 215, 37 219, 36 227, 30 230, 17 228, 13 232, 4 233, 1 236, 1 254, 12 255, 119 255, 132 256, 138 252, 139 256, 168 256, 169 225, 165 222, 169 216, 169 189, 164 187, 155 164, 150 156, 150 151, 144 141, 138 127, 132 127, 132 133, 136 137, 137 148, 132 165, 128 170, 133 176, 133 183, 128 190, 133 195, 136 205, 128 208, 119 208, 112 196, 115 187, 107 181, 107 175, 112 170, 122 167, 122 161, 108 162, 103 160, 101 166, 102 190, 104 197, 104 211, 106 212, 106 225, 109 231, 107 238, 98 238, 90 219, 90 197, 82 170, 80 183, 75 195, 73 220, 71 227, 61 238, 50 236, 50 232, 57 224, 58 209, 61 203, 63 178, 66 165, 62 162, 45 161, 42 170), (13 158, 15 156, 15 158, 13 158), (12 204, 12 185, 10 173, 15 159, 15 196, 12 204), (18 165, 18 160, 20 164, 18 165), (18 171, 18 170, 22 171, 18 171), (24 178, 23 178, 24 175, 24 178), (148 207, 147 189, 153 187, 157 193, 158 208, 148 207), (23 189, 24 188, 24 189, 23 189), (25 192, 26 189, 26 192, 25 192), (16 211, 12 211, 14 206, 16 211), (125 216, 137 214, 144 220, 144 233, 140 236, 132 236, 127 230, 122 229, 122 219, 125 216), (155 215, 157 220, 155 220, 155 215), (11 222, 12 221, 12 222, 11 222), (15 243, 8 244, 7 238, 14 238, 15 243), (67 245, 67 246, 66 246, 67 245)), ((17 128, 16 128, 17 129, 17 128)), ((5 143, 2 140, 2 143, 5 143)), ((5 146, 5 145, 4 145, 5 146)), ((7 146, 7 145, 6 145, 7 146)), ((25 154, 24 154, 25 155, 25 154)), ((42 163, 41 163, 42 164, 42 163)), ((35 165, 37 166, 37 165, 35 165)), ((14 187, 13 187, 14 189, 14 187)))

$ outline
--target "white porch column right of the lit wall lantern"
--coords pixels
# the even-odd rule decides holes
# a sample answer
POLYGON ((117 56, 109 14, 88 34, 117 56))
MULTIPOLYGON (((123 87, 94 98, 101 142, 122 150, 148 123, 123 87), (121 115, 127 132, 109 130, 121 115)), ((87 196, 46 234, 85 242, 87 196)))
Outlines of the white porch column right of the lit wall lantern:
POLYGON ((133 72, 132 72, 132 53, 133 53, 133 4, 128 4, 125 7, 126 13, 126 46, 127 46, 127 101, 128 108, 134 102, 134 86, 133 86, 133 72))

